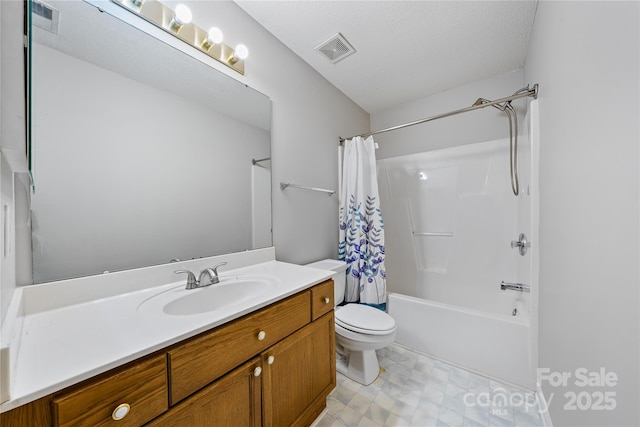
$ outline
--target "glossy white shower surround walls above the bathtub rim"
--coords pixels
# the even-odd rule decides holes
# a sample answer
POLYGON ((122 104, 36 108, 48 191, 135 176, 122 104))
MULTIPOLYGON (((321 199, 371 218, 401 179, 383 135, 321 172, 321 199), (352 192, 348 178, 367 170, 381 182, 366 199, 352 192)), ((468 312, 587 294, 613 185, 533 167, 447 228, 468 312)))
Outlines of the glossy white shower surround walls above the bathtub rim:
MULTIPOLYGON (((526 193, 533 190, 528 138, 520 139, 526 193)), ((510 313, 503 301, 513 301, 500 282, 531 285, 518 274, 520 259, 531 256, 521 257, 510 242, 521 232, 533 237, 518 218, 530 195, 510 192, 508 159, 509 140, 501 139, 378 162, 390 292, 510 313)))

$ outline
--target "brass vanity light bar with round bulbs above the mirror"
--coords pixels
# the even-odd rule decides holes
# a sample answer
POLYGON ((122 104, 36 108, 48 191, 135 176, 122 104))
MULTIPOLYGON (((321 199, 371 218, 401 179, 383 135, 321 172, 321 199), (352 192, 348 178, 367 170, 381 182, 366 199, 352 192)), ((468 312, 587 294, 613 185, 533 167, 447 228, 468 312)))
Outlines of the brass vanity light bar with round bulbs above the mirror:
POLYGON ((243 44, 237 45, 235 49, 224 44, 222 31, 217 27, 205 31, 193 24, 191 11, 186 5, 179 4, 174 11, 157 0, 111 1, 196 48, 200 53, 244 74, 249 49, 243 44))

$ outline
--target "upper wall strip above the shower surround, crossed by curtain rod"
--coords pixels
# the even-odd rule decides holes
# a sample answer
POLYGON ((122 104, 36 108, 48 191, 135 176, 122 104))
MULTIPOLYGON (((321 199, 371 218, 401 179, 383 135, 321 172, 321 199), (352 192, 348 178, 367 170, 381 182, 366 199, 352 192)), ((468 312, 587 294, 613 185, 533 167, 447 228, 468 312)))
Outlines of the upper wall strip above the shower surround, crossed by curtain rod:
MULTIPOLYGON (((470 107, 480 97, 502 98, 525 86, 525 83, 529 82, 524 82, 521 69, 469 83, 372 114, 371 129, 385 129, 470 107)), ((514 101, 514 106, 522 106, 523 102, 514 101)), ((523 110, 518 109, 518 115, 522 121, 523 110)), ((495 108, 487 107, 479 111, 383 133, 374 138, 380 145, 376 158, 383 159, 474 142, 493 141, 508 136, 509 124, 506 115, 495 108)))

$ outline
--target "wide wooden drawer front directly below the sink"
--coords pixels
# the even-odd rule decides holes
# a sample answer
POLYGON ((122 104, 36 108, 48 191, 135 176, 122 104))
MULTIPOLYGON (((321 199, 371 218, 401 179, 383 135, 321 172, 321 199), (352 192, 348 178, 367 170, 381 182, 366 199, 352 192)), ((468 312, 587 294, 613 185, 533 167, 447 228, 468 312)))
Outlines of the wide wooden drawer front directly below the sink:
POLYGON ((310 313, 307 291, 170 350, 171 405, 303 327, 310 313))

